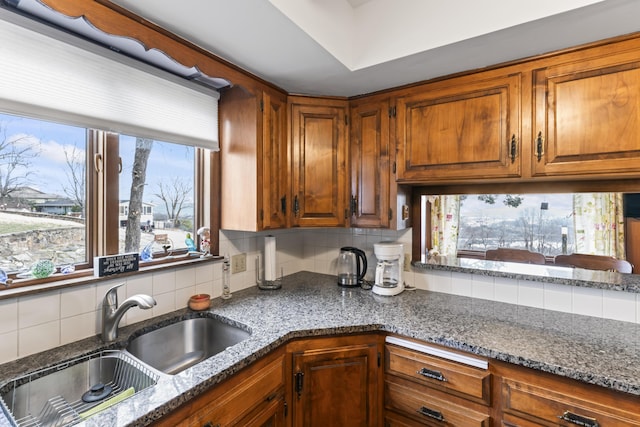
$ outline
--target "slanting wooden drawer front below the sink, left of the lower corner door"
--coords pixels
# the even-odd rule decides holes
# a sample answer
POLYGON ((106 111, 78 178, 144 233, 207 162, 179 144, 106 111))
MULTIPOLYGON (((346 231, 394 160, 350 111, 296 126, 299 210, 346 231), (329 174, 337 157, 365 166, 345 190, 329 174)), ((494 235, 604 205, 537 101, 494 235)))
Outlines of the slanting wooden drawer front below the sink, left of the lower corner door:
POLYGON ((219 399, 214 400, 207 409, 190 419, 190 425, 229 426, 247 415, 266 399, 276 397, 278 390, 284 387, 284 368, 281 358, 274 360, 256 375, 230 388, 219 399), (198 423, 198 424, 195 424, 198 423))

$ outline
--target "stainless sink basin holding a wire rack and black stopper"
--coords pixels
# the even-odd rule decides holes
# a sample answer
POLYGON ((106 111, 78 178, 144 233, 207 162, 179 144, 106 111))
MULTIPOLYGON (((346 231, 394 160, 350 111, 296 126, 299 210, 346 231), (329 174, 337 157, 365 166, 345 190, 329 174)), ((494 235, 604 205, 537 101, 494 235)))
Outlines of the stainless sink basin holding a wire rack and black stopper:
POLYGON ((158 377, 125 352, 102 351, 16 378, 0 397, 18 426, 67 426, 103 402, 155 385, 158 377))

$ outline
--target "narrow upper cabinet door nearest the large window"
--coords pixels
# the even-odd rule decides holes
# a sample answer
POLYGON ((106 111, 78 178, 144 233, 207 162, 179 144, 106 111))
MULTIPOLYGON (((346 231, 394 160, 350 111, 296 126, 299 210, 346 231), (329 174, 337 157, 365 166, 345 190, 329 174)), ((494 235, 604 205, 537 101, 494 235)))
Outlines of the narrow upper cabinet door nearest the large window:
POLYGON ((258 168, 262 168, 258 183, 261 229, 285 228, 289 198, 286 97, 265 93, 261 108, 262 155, 258 157, 258 168))

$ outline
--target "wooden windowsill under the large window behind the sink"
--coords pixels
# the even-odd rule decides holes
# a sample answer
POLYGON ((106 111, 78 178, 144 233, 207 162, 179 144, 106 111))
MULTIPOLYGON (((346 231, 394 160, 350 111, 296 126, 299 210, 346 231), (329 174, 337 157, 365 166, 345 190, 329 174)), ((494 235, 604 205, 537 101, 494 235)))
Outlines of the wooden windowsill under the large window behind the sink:
POLYGON ((86 285, 89 283, 99 283, 106 280, 131 277, 137 274, 167 270, 170 268, 185 267, 205 262, 222 261, 223 259, 224 257, 218 255, 213 255, 205 258, 194 256, 179 256, 172 257, 170 259, 161 258, 157 261, 140 262, 138 271, 113 274, 104 277, 95 277, 93 275, 93 269, 86 269, 79 270, 71 274, 56 273, 42 280, 18 279, 14 280, 8 287, 0 288, 0 300, 48 292, 55 289, 64 289, 71 286, 86 285))

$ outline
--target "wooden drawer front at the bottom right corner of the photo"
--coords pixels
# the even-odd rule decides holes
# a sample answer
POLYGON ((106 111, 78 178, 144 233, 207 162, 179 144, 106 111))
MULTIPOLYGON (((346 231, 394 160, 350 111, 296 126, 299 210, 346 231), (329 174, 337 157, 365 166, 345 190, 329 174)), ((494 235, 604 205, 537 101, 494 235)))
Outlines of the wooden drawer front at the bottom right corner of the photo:
MULTIPOLYGON (((640 415, 512 379, 502 381, 503 411, 548 426, 640 426, 640 415)), ((514 423, 519 425, 518 423, 514 423)), ((528 425, 528 424, 524 424, 528 425)))

